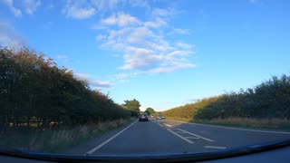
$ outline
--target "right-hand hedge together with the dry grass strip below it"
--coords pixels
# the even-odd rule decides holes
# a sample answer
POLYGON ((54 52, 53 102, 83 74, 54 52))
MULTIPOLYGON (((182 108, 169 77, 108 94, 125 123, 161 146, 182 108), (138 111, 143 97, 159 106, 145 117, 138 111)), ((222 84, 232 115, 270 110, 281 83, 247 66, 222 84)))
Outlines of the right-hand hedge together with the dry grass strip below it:
POLYGON ((183 120, 224 126, 290 130, 290 76, 273 76, 246 91, 205 98, 163 115, 183 120))

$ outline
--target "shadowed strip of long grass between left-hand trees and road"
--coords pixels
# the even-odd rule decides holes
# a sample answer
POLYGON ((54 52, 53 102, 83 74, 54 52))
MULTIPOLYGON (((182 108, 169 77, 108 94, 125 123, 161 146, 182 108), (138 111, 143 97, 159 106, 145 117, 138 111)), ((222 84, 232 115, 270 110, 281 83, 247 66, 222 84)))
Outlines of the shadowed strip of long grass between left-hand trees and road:
POLYGON ((80 145, 89 139, 101 136, 112 129, 129 124, 130 120, 111 120, 78 126, 73 129, 57 130, 17 130, 0 134, 0 147, 4 149, 22 149, 43 152, 57 152, 80 145))

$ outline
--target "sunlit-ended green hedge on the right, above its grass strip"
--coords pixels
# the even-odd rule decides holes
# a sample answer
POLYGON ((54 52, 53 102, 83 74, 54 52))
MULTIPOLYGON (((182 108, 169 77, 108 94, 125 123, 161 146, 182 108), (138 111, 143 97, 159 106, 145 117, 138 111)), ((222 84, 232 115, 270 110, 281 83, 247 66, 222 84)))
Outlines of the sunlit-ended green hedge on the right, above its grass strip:
POLYGON ((205 98, 195 103, 163 111, 168 117, 196 120, 290 119, 290 76, 273 76, 254 88, 205 98))

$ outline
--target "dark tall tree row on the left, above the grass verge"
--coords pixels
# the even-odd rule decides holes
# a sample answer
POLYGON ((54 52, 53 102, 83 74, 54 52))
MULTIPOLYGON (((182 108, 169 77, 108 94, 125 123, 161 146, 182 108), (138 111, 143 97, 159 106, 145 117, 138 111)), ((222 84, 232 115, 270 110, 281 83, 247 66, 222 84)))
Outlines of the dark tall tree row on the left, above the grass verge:
POLYGON ((53 59, 27 48, 0 48, 0 131, 51 129, 131 117, 53 59))

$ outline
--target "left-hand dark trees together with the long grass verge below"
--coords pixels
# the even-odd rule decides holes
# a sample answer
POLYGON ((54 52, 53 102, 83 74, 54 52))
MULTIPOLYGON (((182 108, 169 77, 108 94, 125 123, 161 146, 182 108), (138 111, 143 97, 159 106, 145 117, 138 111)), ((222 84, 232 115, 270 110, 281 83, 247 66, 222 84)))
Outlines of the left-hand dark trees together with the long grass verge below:
POLYGON ((92 90, 43 53, 0 48, 0 148, 76 145, 138 115, 140 103, 134 108, 128 102, 119 105, 92 90))

